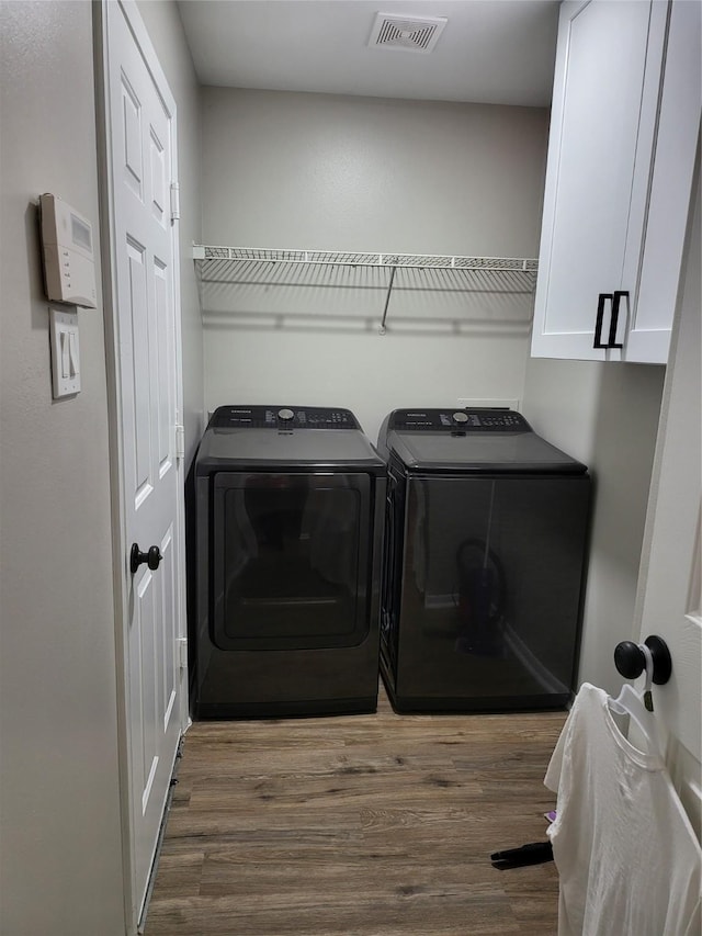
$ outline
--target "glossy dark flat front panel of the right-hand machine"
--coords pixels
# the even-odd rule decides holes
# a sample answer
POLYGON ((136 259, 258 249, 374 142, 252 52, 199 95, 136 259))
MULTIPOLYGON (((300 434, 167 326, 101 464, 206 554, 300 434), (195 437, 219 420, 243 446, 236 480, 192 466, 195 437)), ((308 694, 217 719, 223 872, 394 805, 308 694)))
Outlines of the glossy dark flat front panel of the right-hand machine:
POLYGON ((476 708, 569 698, 587 475, 411 477, 397 692, 476 708))

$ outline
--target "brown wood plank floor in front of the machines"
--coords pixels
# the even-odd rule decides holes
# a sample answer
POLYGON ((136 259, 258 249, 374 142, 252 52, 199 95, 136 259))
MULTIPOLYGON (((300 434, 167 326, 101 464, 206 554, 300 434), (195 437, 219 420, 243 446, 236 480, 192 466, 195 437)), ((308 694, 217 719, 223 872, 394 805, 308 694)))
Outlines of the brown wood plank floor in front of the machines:
POLYGON ((196 722, 146 936, 552 936, 543 776, 565 713, 196 722))

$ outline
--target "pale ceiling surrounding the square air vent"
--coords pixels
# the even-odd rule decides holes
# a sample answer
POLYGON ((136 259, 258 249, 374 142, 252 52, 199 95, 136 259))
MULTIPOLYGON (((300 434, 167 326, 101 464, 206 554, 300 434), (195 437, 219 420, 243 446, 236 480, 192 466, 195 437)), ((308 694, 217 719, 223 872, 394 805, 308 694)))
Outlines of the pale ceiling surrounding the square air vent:
POLYGON ((548 106, 557 0, 180 0, 203 84, 548 106), (370 47, 376 13, 445 18, 430 53, 370 47))

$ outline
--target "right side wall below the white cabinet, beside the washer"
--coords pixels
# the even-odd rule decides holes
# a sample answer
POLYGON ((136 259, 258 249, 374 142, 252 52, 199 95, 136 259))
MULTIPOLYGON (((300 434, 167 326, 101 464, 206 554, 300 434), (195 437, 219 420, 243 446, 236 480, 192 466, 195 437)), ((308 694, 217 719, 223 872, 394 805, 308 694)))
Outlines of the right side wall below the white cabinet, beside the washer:
POLYGON ((634 608, 665 368, 531 358, 524 411, 595 482, 579 681, 616 695, 614 647, 634 608))

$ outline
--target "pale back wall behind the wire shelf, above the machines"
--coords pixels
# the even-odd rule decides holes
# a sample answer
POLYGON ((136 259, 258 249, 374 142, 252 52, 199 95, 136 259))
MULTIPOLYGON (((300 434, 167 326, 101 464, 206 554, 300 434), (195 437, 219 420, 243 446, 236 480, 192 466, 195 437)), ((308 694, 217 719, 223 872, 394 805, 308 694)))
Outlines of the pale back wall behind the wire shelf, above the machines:
MULTIPOLYGON (((206 244, 537 253, 543 110, 219 88, 203 104, 206 244)), ((208 290, 206 407, 348 406, 375 438, 398 406, 521 397, 531 298, 505 328, 494 307, 460 320, 460 295, 394 295, 380 336, 384 302, 383 287, 208 290)))

